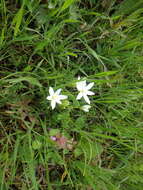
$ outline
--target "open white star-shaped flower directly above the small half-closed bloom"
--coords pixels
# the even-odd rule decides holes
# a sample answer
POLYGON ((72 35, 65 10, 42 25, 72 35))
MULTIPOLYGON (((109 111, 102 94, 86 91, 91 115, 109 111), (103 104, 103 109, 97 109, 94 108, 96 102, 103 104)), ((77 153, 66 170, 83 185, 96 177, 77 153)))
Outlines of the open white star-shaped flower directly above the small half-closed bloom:
POLYGON ((90 100, 88 96, 94 95, 94 92, 89 91, 94 85, 94 82, 89 83, 88 85, 86 84, 86 80, 80 81, 76 83, 76 88, 79 91, 79 94, 77 95, 76 99, 80 100, 82 97, 84 100, 90 104, 90 100))

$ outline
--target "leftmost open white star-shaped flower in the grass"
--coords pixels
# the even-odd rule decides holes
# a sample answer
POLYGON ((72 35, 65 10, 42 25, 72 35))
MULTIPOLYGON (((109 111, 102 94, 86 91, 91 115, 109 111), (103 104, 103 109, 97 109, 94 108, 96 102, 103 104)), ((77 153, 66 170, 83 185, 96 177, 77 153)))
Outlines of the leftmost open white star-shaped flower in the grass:
POLYGON ((54 109, 57 104, 61 104, 61 100, 67 99, 67 96, 65 95, 60 95, 62 89, 58 89, 56 92, 54 92, 53 88, 49 88, 49 94, 50 96, 47 97, 47 100, 51 101, 51 107, 54 109))

